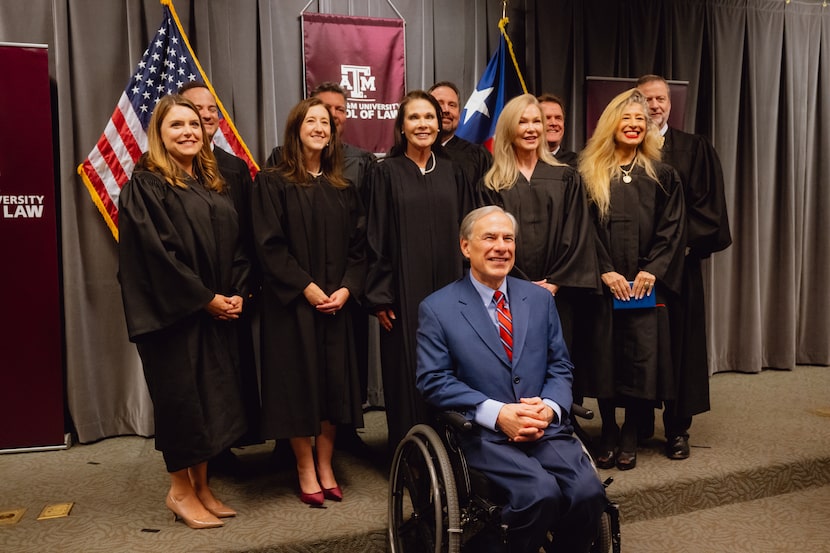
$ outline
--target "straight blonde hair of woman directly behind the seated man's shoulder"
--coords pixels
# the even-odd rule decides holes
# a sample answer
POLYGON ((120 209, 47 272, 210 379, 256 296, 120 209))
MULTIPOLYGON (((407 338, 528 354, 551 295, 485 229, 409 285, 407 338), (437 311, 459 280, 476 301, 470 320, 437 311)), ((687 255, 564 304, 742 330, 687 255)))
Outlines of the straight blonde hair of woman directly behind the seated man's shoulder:
POLYGON ((516 163, 516 150, 513 140, 516 138, 516 127, 528 106, 536 106, 542 118, 542 134, 536 147, 536 155, 548 165, 563 165, 548 150, 545 140, 544 115, 538 100, 532 94, 516 96, 504 106, 496 122, 496 132, 493 136, 493 166, 484 175, 484 186, 496 192, 513 187, 519 178, 519 166, 516 163))

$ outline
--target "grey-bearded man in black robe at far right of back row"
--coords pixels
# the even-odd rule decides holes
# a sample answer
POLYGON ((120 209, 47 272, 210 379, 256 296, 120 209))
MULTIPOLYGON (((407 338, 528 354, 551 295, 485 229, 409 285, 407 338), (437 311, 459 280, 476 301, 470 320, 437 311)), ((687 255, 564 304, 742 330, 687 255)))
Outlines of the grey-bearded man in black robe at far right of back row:
POLYGON ((646 96, 651 120, 665 142, 663 161, 680 174, 686 203, 686 257, 678 304, 670 310, 672 357, 677 370, 677 399, 666 402, 663 424, 666 455, 689 457, 692 416, 709 410, 709 362, 701 261, 732 243, 723 171, 706 138, 668 126, 669 85, 662 77, 645 75, 637 88, 646 96))

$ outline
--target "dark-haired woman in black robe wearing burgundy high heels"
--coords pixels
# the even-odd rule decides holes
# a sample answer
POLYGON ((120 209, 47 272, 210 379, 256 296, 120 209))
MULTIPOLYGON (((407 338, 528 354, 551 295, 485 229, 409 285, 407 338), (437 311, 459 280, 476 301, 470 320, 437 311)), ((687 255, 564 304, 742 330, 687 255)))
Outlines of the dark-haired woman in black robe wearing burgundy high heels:
POLYGON ((262 430, 290 438, 300 499, 310 505, 342 500, 335 431, 363 426, 345 308, 363 291, 365 216, 340 156, 326 105, 303 100, 288 115, 280 163, 257 175, 251 202, 263 272, 262 430))

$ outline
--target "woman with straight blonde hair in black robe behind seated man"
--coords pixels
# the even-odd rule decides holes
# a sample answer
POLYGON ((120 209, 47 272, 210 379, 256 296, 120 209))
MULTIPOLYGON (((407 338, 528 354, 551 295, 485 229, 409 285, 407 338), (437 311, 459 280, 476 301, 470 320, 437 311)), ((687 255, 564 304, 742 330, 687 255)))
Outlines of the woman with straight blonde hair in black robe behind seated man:
POLYGON ((516 217, 517 276, 556 298, 562 333, 574 355, 574 316, 598 291, 594 229, 576 169, 548 150, 541 106, 531 94, 510 100, 499 115, 493 167, 482 180, 485 203, 516 217))

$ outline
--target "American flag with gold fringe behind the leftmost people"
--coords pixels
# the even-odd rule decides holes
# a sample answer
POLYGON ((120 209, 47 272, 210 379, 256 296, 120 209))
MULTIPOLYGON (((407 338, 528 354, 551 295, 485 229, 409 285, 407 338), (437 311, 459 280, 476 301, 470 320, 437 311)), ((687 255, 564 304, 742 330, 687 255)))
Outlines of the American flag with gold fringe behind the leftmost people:
POLYGON ((259 170, 199 65, 172 1, 161 0, 161 3, 164 5, 161 26, 121 93, 104 134, 78 166, 78 174, 116 240, 118 195, 130 179, 138 158, 147 150, 146 130, 153 108, 162 96, 178 91, 187 82, 205 83, 216 98, 220 119, 214 145, 245 161, 252 177, 259 170))

